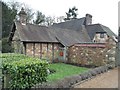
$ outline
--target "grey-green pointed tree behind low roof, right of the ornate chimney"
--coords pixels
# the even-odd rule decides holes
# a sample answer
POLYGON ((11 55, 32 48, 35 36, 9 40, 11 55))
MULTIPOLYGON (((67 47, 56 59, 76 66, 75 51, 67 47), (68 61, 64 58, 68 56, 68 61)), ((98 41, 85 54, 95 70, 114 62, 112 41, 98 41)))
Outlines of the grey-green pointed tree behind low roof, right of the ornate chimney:
POLYGON ((45 22, 45 15, 42 14, 42 12, 37 11, 36 12, 36 19, 33 20, 34 24, 40 25, 41 23, 45 22))

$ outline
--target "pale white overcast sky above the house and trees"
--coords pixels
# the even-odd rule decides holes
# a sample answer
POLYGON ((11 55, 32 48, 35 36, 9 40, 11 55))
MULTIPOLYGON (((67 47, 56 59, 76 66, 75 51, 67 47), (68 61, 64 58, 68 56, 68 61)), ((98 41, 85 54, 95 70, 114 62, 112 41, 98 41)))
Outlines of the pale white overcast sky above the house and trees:
MULTIPOLYGON (((13 0, 3 0, 10 2, 13 0)), ((65 16, 69 8, 78 8, 78 18, 91 14, 92 23, 100 23, 118 33, 118 2, 120 0, 14 0, 25 3, 33 10, 39 10, 46 16, 65 16)))

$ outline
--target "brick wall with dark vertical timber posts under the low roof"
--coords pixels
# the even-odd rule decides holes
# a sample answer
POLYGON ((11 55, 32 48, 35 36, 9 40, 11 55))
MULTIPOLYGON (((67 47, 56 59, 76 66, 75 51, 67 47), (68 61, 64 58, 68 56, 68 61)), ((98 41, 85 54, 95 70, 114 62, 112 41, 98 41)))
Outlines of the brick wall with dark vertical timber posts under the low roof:
POLYGON ((58 58, 59 44, 53 43, 26 43, 26 55, 47 59, 52 62, 58 58))

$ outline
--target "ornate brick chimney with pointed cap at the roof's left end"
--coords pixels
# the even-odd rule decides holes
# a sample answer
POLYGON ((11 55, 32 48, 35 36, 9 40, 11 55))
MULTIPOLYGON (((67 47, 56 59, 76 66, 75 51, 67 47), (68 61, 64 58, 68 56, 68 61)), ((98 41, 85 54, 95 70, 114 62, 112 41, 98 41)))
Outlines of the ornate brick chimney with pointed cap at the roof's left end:
POLYGON ((27 13, 24 11, 24 8, 21 8, 21 11, 18 13, 19 15, 19 21, 22 25, 26 25, 26 18, 27 18, 27 13))

